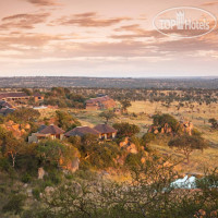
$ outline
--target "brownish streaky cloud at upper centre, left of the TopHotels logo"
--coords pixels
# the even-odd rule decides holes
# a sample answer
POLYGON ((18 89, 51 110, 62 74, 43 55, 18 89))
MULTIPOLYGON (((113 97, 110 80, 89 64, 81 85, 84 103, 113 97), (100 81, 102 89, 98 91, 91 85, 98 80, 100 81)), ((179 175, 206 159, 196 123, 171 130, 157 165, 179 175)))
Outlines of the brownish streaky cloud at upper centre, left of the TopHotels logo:
POLYGON ((81 14, 74 14, 71 16, 63 16, 51 25, 77 25, 82 27, 106 27, 118 24, 122 21, 128 21, 130 17, 113 17, 113 19, 100 19, 96 12, 87 12, 81 14))

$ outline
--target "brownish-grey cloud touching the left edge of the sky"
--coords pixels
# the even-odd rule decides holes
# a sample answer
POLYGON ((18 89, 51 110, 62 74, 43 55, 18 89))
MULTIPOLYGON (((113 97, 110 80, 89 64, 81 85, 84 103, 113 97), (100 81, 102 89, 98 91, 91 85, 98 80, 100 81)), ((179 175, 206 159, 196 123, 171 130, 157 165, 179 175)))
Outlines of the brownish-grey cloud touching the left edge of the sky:
POLYGON ((15 14, 1 20, 0 29, 12 28, 32 29, 35 24, 45 23, 50 13, 15 14))

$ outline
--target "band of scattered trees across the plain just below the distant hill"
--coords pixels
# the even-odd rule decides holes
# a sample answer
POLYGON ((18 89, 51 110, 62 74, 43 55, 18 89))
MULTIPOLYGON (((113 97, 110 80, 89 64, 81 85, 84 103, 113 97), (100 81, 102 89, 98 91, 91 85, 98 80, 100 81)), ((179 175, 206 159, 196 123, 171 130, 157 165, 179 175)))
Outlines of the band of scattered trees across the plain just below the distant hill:
MULTIPOLYGON (((85 107, 85 101, 102 95, 108 95, 114 100, 123 99, 130 101, 148 100, 150 102, 161 102, 169 107, 172 102, 179 102, 178 109, 189 107, 190 104, 197 102, 199 105, 218 102, 217 89, 160 89, 160 88, 64 88, 52 87, 51 89, 22 89, 28 95, 40 93, 45 96, 44 104, 58 106, 60 108, 78 108, 85 107)), ((29 101, 33 105, 33 101, 29 101)))

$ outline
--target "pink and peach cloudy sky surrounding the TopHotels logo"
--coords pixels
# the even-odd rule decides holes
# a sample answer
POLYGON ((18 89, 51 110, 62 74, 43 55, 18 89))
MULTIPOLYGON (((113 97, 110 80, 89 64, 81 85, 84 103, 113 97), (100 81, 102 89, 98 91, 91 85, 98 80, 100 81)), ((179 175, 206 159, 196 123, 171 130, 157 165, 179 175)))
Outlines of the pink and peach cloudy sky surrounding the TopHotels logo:
POLYGON ((157 32, 174 7, 218 16, 211 0, 0 0, 0 76, 218 76, 218 31, 157 32))

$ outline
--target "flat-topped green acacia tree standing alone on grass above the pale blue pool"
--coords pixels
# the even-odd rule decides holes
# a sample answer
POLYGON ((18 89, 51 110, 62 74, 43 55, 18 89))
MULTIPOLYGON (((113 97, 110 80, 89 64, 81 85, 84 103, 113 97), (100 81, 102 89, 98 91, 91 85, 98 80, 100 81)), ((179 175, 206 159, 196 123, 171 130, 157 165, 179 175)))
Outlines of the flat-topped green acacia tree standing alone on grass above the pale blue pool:
POLYGON ((203 150, 208 146, 204 138, 202 138, 201 136, 191 136, 186 134, 171 140, 168 145, 169 147, 174 147, 179 152, 181 152, 185 156, 187 164, 190 162, 190 155, 193 150, 203 150))

